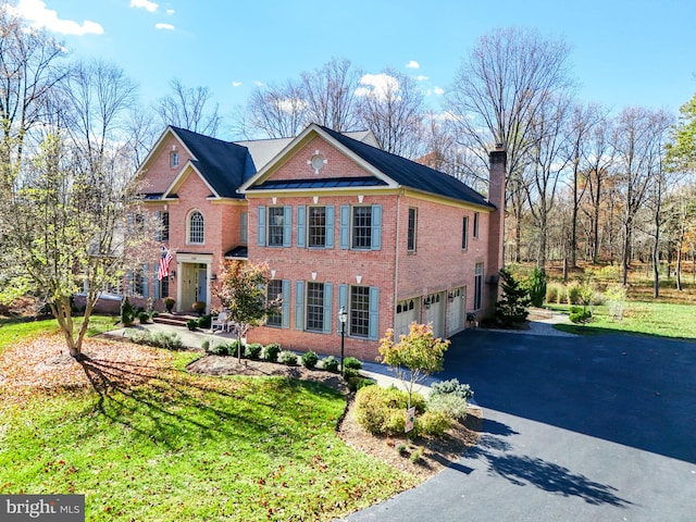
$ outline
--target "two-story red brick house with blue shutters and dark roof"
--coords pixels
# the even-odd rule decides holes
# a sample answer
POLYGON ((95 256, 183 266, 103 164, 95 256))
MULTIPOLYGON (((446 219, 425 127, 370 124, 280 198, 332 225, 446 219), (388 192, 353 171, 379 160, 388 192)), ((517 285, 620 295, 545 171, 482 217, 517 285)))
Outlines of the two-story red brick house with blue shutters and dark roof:
MULTIPOLYGON (((282 310, 249 341, 374 358, 387 328, 430 322, 438 336, 492 313, 502 265, 505 152, 490 152, 489 199, 385 152, 370 133, 310 125, 299 136, 232 144, 167 127, 140 170, 146 204, 173 253, 169 281, 144 268, 145 297, 211 306, 226 258, 266 262, 282 310)), ((157 258, 157 252, 154 253, 157 258)), ((137 294, 137 291, 135 291, 137 294)), ((212 303, 214 304, 214 302, 212 303)))

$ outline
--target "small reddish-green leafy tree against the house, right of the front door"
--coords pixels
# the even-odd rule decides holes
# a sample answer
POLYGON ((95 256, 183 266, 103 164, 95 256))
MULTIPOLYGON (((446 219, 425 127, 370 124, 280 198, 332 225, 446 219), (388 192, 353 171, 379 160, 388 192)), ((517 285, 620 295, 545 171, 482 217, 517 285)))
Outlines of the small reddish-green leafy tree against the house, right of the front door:
POLYGON ((265 287, 270 281, 269 266, 244 261, 225 261, 213 294, 227 310, 237 326, 237 360, 241 361, 241 337, 249 328, 261 326, 269 313, 277 310, 279 299, 269 301, 265 287))

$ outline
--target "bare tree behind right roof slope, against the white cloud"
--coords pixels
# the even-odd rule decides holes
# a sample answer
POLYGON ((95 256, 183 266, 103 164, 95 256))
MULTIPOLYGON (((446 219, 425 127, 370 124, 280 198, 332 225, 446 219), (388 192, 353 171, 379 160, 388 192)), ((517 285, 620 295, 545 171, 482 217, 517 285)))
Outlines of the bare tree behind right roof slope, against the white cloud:
POLYGON ((406 158, 422 153, 423 94, 415 80, 387 67, 360 83, 360 116, 380 148, 406 158))

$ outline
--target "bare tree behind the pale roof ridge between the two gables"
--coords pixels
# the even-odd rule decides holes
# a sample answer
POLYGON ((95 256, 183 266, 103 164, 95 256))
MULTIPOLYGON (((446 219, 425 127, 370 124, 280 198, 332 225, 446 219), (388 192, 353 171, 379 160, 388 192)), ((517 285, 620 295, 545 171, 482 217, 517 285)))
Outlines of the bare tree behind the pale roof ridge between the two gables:
POLYGON ((291 80, 257 87, 247 103, 247 132, 270 138, 297 136, 309 123, 303 96, 302 86, 291 80))

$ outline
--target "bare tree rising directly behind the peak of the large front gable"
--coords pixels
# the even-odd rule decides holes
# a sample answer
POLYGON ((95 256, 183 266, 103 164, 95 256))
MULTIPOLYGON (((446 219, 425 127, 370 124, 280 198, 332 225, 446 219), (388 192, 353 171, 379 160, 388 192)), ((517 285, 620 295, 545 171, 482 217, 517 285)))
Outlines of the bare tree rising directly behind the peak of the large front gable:
POLYGON ((307 119, 338 133, 357 130, 356 89, 362 72, 345 58, 334 58, 321 69, 300 74, 307 119))

